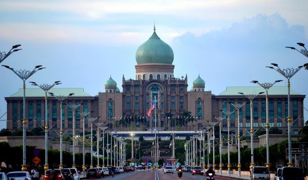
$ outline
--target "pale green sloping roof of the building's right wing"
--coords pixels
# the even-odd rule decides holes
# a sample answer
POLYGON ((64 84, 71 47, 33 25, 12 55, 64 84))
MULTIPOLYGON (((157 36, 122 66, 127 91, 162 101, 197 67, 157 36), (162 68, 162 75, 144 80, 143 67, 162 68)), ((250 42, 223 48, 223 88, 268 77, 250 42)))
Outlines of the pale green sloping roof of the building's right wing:
MULTIPOLYGON (((241 95, 238 92, 244 94, 257 94, 259 92, 264 92, 265 89, 261 86, 249 86, 249 87, 226 87, 226 90, 219 95, 241 95)), ((301 95, 300 93, 294 91, 290 88, 291 95, 301 95)), ((287 95, 287 86, 273 86, 268 89, 268 95, 287 95)))

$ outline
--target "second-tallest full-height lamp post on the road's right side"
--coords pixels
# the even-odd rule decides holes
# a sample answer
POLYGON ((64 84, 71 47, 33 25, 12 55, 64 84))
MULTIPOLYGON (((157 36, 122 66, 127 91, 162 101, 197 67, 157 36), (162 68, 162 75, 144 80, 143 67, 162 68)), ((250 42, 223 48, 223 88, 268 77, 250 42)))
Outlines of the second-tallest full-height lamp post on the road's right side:
POLYGON ((268 137, 268 130, 269 130, 269 119, 268 119, 268 89, 274 86, 276 83, 281 82, 282 80, 277 80, 274 83, 259 83, 258 81, 252 81, 251 83, 258 84, 262 88, 265 89, 266 95, 266 125, 265 125, 265 130, 266 130, 266 168, 269 170, 271 168, 271 164, 269 164, 269 137, 268 137))

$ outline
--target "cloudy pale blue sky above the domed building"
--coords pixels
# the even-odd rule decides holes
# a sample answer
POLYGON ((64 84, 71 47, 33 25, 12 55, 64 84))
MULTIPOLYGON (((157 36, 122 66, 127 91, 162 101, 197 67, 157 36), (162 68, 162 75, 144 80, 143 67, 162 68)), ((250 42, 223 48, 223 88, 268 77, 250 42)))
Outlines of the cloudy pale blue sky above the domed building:
MULTIPOLYGON (((296 68, 308 58, 285 46, 308 46, 308 1, 305 0, 113 0, 0 1, 0 51, 21 44, 1 65, 16 70, 46 67, 27 82, 104 92, 109 76, 122 91, 122 76, 134 78, 136 50, 153 32, 174 51, 175 77, 188 77, 188 89, 198 74, 205 90, 220 94, 227 86, 272 83, 286 86, 273 69, 296 68)), ((308 71, 291 78, 291 88, 308 94, 308 71)), ((22 88, 12 71, 0 67, 0 117, 5 97, 22 88)), ((304 100, 308 109, 308 98, 304 100)), ((308 112, 304 109, 304 119, 308 112)), ((6 127, 6 115, 0 129, 6 127)))

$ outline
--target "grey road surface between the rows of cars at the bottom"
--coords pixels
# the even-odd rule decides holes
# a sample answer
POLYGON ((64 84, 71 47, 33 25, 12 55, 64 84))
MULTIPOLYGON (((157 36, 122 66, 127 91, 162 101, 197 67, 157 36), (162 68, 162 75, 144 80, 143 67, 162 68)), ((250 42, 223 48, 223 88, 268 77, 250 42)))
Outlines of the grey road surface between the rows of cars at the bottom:
MULTIPOLYGON (((157 170, 158 179, 157 180, 170 180, 170 179, 180 179, 178 177, 177 171, 175 171, 174 174, 167 173, 164 174, 162 170, 157 170)), ((93 179, 93 178, 91 178, 93 179)), ((100 180, 104 179, 110 179, 110 180, 155 180, 155 171, 153 170, 136 170, 134 172, 125 172, 121 174, 117 174, 114 177, 112 176, 105 176, 103 178, 100 178, 100 180)), ((183 172, 182 178, 183 180, 204 180, 206 179, 206 176, 202 175, 191 175, 191 173, 183 172)), ((225 177, 218 177, 215 176, 215 180, 228 180, 231 178, 225 178, 225 177)))

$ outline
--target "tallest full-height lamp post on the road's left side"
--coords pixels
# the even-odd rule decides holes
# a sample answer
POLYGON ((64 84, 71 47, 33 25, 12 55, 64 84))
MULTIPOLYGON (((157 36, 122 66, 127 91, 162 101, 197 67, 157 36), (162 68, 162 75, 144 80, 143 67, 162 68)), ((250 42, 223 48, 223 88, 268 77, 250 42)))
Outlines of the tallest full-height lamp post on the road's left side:
MULTIPOLYGON (((44 69, 41 65, 35 66, 33 70, 14 70, 13 68, 2 65, 3 67, 8 68, 9 70, 13 71, 18 77, 20 77, 23 80, 23 165, 22 165, 22 171, 25 171, 27 169, 26 165, 26 124, 27 120, 25 118, 26 116, 26 80, 33 75, 36 71, 44 69)), ((46 128, 46 127, 45 127, 46 128)), ((48 128, 48 127, 47 127, 48 128)))

